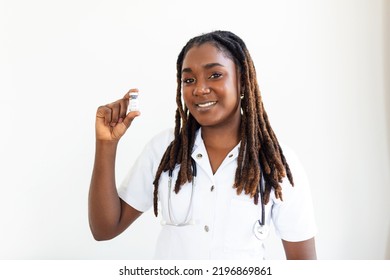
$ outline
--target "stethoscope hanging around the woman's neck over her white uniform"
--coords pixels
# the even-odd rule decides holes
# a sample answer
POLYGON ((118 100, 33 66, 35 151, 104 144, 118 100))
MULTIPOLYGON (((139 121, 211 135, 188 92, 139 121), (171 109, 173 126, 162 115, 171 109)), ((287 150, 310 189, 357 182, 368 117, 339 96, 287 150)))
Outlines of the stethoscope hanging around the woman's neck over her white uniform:
MULTIPOLYGON (((194 189, 196 187, 196 175, 197 175, 197 169, 196 169, 196 162, 194 159, 191 158, 191 165, 192 165, 192 183, 191 183, 191 196, 190 196, 190 203, 188 204, 187 213, 185 215, 185 218, 181 222, 177 222, 172 210, 172 201, 171 201, 171 194, 172 194, 172 176, 173 176, 173 170, 168 171, 168 216, 170 222, 163 221, 163 225, 169 225, 169 226, 187 226, 187 225, 193 225, 195 222, 190 218, 190 214, 192 211, 192 204, 193 204, 193 198, 194 198, 194 189)), ((269 227, 265 224, 265 205, 264 205, 264 182, 263 178, 260 179, 260 201, 261 201, 261 219, 256 220, 255 224, 253 225, 253 233, 259 240, 264 240, 267 238, 269 233, 269 227)))

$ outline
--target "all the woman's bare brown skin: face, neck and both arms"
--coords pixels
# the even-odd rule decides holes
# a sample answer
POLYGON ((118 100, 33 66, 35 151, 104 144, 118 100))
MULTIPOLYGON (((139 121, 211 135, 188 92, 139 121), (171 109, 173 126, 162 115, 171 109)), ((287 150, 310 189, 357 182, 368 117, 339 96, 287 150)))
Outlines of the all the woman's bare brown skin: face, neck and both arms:
MULTIPOLYGON (((240 142, 240 83, 234 62, 211 44, 191 48, 183 61, 187 108, 202 126, 213 173, 240 142)), ((137 89, 131 89, 137 91, 137 89)), ((139 112, 126 114, 129 93, 96 113, 96 153, 89 192, 89 221, 96 240, 112 239, 141 214, 119 198, 115 183, 118 142, 139 112)), ((314 238, 282 240, 287 259, 316 259, 314 238)))

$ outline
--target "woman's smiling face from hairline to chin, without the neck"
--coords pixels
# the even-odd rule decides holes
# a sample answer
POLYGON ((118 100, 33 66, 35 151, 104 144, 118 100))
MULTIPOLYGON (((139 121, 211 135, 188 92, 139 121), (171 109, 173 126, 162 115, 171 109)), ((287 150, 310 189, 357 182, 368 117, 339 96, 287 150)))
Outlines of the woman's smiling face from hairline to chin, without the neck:
POLYGON ((192 47, 182 66, 184 102, 202 127, 231 126, 240 120, 236 65, 210 43, 192 47))

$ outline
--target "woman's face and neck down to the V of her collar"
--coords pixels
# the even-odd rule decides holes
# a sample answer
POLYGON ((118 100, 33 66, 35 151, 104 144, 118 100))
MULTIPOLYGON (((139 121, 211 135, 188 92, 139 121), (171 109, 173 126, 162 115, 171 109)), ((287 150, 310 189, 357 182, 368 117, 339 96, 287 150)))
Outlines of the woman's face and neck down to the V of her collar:
POLYGON ((240 142, 236 66, 210 44, 193 47, 183 61, 182 87, 186 106, 202 126, 202 139, 215 173, 240 142))

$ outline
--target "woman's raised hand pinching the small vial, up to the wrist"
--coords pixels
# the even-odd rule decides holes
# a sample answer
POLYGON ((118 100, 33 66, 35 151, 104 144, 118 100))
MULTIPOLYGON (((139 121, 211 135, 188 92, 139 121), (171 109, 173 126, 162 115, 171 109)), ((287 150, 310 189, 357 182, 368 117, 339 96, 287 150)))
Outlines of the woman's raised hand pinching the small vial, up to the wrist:
POLYGON ((98 108, 96 112, 96 140, 119 141, 134 118, 140 115, 138 111, 127 114, 131 92, 138 92, 138 89, 130 89, 122 99, 98 108))

